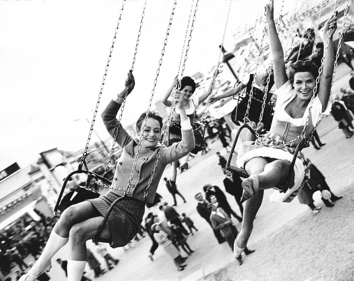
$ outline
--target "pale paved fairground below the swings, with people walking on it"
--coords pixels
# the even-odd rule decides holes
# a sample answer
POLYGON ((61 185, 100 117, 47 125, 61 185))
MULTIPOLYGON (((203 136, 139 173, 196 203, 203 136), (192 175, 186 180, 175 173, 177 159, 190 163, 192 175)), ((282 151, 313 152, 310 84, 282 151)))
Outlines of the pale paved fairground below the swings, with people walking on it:
MULTIPOLYGON (((341 77, 334 85, 333 92, 338 92, 340 87, 348 87, 348 75, 343 76, 347 72, 346 65, 339 65, 337 78, 341 77)), ((337 122, 330 116, 322 121, 319 128, 321 141, 326 143, 321 150, 317 151, 313 147, 304 150, 304 153, 312 160, 313 163, 326 176, 327 182, 332 191, 337 194, 344 193, 348 188, 353 187, 353 142, 352 139, 345 139, 341 130, 338 129, 337 122)), ((222 180, 223 172, 219 165, 215 152, 220 150, 225 157, 227 153, 221 150, 221 144, 215 142, 210 145, 212 150, 203 156, 197 156, 190 161, 191 168, 178 175, 177 186, 179 191, 186 197, 187 203, 182 204, 182 200, 178 200, 177 211, 185 212, 190 216, 199 231, 191 236, 188 240, 189 245, 196 250, 187 259, 187 267, 184 271, 177 271, 175 265, 170 260, 164 250, 159 247, 155 252, 155 260, 152 262, 148 257, 148 251, 151 246, 151 240, 147 236, 141 241, 135 242, 134 247, 124 252, 121 248, 111 250, 110 252, 120 259, 119 264, 111 271, 97 278, 101 280, 227 280, 226 276, 230 276, 231 280, 293 280, 298 281, 327 281, 327 280, 352 280, 339 279, 333 275, 335 279, 326 279, 327 270, 334 270, 341 265, 337 273, 350 269, 353 265, 353 259, 346 257, 353 256, 348 247, 353 248, 353 242, 348 239, 348 234, 352 235, 354 229, 350 232, 342 231, 344 225, 353 224, 354 210, 346 208, 346 205, 353 205, 353 196, 346 193, 346 198, 338 201, 335 207, 324 207, 318 214, 314 214, 306 205, 299 204, 297 199, 292 203, 269 203, 268 196, 270 191, 265 192, 263 205, 258 212, 255 220, 255 227, 249 240, 249 247, 254 248, 256 252, 244 258, 244 265, 239 267, 232 256, 232 251, 226 243, 218 244, 209 224, 202 219, 195 210, 196 201, 194 194, 202 191, 205 183, 212 183, 224 190, 222 180), (335 235, 327 231, 329 224, 332 226, 331 231, 335 231, 335 235), (333 227, 335 226, 335 227, 333 227), (294 229, 296 228, 296 229, 294 229), (301 229, 304 229, 301 232, 301 229), (277 230, 275 232, 275 230, 277 230), (313 231, 314 236, 309 232, 313 231), (281 237, 278 233, 284 234, 281 237), (283 238, 283 236, 285 238, 283 238), (293 245, 294 241, 301 247, 293 245), (289 242, 289 246, 287 246, 289 242), (317 244, 317 242, 319 242, 317 244), (325 247, 335 242, 336 247, 325 247), (281 245, 281 246, 279 246, 281 245), (303 245, 306 250, 304 250, 303 245), (322 255, 325 249, 330 252, 322 255), (303 251, 304 250, 304 251, 303 251), (267 257, 271 257, 269 260, 267 257), (313 263, 312 267, 306 267, 306 264, 314 260, 319 262, 313 263), (347 262, 343 263, 342 261, 347 262), (352 265, 348 263, 352 262, 352 265), (333 267, 326 267, 331 262, 333 267), (293 264, 293 267, 289 267, 293 264), (223 268, 223 273, 215 272, 223 268), (250 270, 251 273, 247 272, 250 270), (285 271, 285 274, 282 271, 285 271), (258 274, 258 275, 257 275, 258 274), (199 275, 199 277, 197 277, 199 275), (205 276, 204 279, 203 276, 205 276), (287 276, 287 277, 285 277, 287 276), (295 277, 289 277, 295 276, 295 277), (257 278, 259 277, 259 279, 257 278)), ((169 175, 170 167, 166 169, 165 175, 169 175)), ((173 204, 171 195, 168 193, 163 181, 158 192, 164 199, 173 204)), ((234 199, 228 196, 228 200, 236 212, 239 212, 234 199)), ((319 203, 321 204, 321 203, 319 203)), ((237 228, 240 225, 234 221, 237 228)), ((328 228, 329 229, 329 228, 328 228)), ((91 246, 91 245, 89 245, 91 246)), ((66 258, 67 251, 63 248, 57 254, 58 257, 66 258)), ((56 256, 56 257, 57 257, 56 256)), ((55 258, 56 258, 55 257, 55 258)), ((55 261, 55 258, 53 261, 55 261)), ((53 269, 50 272, 52 280, 65 280, 65 275, 59 265, 53 262, 53 269)), ((352 267, 353 268, 353 267, 352 267)), ((353 273, 354 274, 354 273, 353 273)), ((92 271, 89 271, 89 276, 92 271)), ((329 276, 329 275, 328 275, 329 276)), ((328 277, 327 276, 327 277, 328 277)))

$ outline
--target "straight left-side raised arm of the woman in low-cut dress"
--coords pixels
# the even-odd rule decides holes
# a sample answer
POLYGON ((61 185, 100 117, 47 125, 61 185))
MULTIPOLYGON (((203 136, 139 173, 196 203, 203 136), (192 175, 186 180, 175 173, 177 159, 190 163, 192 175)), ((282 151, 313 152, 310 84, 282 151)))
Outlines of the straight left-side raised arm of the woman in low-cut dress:
POLYGON ((265 5, 265 16, 268 20, 268 36, 270 51, 272 52, 274 61, 274 82, 277 89, 283 86, 287 81, 285 63, 284 63, 284 51, 281 46, 278 33, 274 23, 274 1, 270 1, 270 5, 265 5))

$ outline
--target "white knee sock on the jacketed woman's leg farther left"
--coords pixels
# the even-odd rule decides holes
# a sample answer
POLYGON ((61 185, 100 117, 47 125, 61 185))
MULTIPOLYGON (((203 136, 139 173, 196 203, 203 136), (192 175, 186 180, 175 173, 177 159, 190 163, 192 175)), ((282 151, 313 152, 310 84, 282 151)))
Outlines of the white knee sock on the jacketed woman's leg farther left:
POLYGON ((30 274, 33 276, 38 276, 41 274, 42 271, 50 265, 52 257, 56 254, 56 252, 59 251, 61 247, 67 244, 68 240, 69 238, 59 236, 54 231, 52 231, 41 256, 29 270, 30 274))

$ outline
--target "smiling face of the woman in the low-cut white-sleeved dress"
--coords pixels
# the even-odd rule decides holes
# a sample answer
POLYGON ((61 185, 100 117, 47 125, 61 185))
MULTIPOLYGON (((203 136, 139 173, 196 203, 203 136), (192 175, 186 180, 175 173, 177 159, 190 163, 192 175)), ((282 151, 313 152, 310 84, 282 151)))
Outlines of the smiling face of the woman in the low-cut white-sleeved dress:
POLYGON ((294 75, 293 87, 297 96, 302 100, 312 97, 315 84, 316 81, 311 72, 296 72, 294 75))

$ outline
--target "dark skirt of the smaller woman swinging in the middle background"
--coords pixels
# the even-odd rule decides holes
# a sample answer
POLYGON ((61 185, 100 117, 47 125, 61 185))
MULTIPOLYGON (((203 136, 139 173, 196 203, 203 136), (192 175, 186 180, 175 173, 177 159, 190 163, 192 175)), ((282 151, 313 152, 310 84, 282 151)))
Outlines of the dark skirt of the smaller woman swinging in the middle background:
MULTIPOLYGON (((205 142, 203 135, 201 133, 201 128, 200 124, 198 123, 193 123, 192 128, 193 128, 193 133, 194 133, 194 139, 195 139, 195 148, 191 151, 193 154, 197 154, 199 151, 202 151, 205 149, 205 142)), ((181 123, 178 121, 173 121, 170 125, 169 128, 169 135, 165 139, 165 145, 166 146, 171 146, 175 142, 179 142, 182 140, 182 132, 181 132, 181 123), (167 140, 168 137, 168 140, 167 140)))

